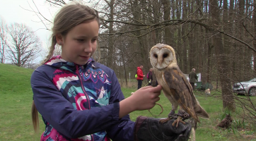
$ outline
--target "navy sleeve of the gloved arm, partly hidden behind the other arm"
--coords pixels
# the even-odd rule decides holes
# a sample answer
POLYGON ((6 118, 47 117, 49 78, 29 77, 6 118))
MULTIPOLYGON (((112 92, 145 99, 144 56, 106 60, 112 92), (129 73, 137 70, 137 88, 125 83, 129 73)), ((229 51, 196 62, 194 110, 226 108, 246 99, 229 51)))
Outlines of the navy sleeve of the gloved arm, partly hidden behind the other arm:
MULTIPOLYGON (((124 99, 124 94, 121 91, 120 83, 117 80, 115 73, 112 74, 112 87, 110 94, 110 104, 120 102, 124 99)), ((134 140, 134 121, 131 121, 129 115, 120 118, 117 123, 107 128, 107 136, 113 141, 132 141, 134 140)))

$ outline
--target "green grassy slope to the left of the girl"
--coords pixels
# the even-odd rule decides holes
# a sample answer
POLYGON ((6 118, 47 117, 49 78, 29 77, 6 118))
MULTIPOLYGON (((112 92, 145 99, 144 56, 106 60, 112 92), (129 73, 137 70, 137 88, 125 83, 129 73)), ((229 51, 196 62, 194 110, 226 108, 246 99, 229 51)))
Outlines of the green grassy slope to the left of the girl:
POLYGON ((34 70, 0 63, 0 140, 39 140, 30 109, 33 92, 30 77, 34 70))

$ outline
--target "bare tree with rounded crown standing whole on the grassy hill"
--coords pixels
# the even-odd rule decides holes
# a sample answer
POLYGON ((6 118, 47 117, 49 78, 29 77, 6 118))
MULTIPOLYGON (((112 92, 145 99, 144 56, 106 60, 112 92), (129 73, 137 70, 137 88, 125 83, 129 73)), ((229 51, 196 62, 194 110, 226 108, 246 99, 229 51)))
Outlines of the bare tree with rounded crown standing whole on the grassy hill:
POLYGON ((25 66, 36 59, 40 52, 40 39, 24 24, 14 23, 8 27, 8 58, 16 66, 25 66))

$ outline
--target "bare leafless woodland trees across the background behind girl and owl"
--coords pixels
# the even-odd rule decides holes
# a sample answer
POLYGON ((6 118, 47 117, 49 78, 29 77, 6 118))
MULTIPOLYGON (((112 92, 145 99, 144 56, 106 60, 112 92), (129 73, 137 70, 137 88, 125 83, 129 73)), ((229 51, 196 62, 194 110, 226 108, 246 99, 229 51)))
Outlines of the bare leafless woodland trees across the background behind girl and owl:
MULTIPOLYGON (((237 100, 232 91, 235 82, 255 78, 255 0, 77 2, 90 4, 98 11, 99 46, 93 57, 115 71, 122 87, 129 87, 129 76, 134 77, 137 66, 143 64, 145 74, 149 71, 149 50, 153 45, 168 44, 175 49, 178 66, 183 73, 190 73, 192 68, 196 68, 197 73, 202 74, 203 83, 212 83, 214 89, 221 92, 223 108, 235 111, 236 106, 242 106, 255 122, 256 109, 250 97, 237 100)), ((61 8, 69 1, 45 0, 45 3, 61 8)), ((31 9, 31 12, 41 19, 45 30, 51 29, 52 21, 49 18, 37 9, 31 9)), ((21 27, 15 24, 11 26, 21 27)), ((1 63, 4 63, 5 57, 13 59, 15 56, 14 64, 31 67, 34 58, 23 57, 32 53, 18 55, 21 46, 16 44, 17 38, 11 36, 11 30, 7 30, 12 29, 11 26, 1 22, 1 63), (11 38, 9 42, 8 37, 11 38)), ((28 50, 33 49, 33 56, 36 56, 40 52, 40 45, 35 44, 28 50)), ((57 48, 54 54, 60 52, 60 48, 57 48)))

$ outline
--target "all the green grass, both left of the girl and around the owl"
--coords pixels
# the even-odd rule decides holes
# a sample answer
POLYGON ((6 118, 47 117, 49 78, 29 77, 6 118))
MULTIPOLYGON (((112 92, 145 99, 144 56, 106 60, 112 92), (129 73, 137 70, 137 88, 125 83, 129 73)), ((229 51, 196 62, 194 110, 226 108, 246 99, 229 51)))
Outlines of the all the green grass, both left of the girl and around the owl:
MULTIPOLYGON (((0 63, 0 140, 40 140, 41 133, 44 130, 42 120, 40 120, 40 133, 33 131, 31 122, 30 109, 33 99, 33 92, 30 87, 30 75, 33 73, 31 69, 18 68, 0 63)), ((124 97, 129 97, 136 87, 122 88, 124 97)), ((211 92, 214 94, 214 92, 211 92)), ((216 92, 217 93, 217 92, 216 92)), ((210 115, 210 119, 200 118, 196 130, 197 140, 254 140, 255 130, 245 121, 243 128, 238 127, 238 123, 242 121, 243 110, 237 108, 235 113, 231 114, 234 119, 233 127, 228 130, 217 128, 216 125, 224 118, 222 108, 222 100, 219 94, 206 97, 202 92, 195 93, 200 104, 210 115), (233 130, 232 130, 233 129, 233 130)), ((160 116, 152 116, 149 111, 134 111, 130 114, 132 121, 137 116, 149 116, 156 118, 167 117, 171 104, 168 99, 161 94, 161 100, 158 102, 163 106, 163 113, 160 116)), ((244 96, 239 96, 244 97, 244 96)), ((250 97, 252 102, 256 103, 256 97, 250 97)), ((151 109, 153 115, 158 115, 161 111, 160 106, 156 105, 151 109)))

